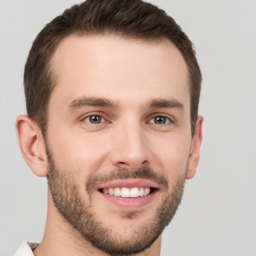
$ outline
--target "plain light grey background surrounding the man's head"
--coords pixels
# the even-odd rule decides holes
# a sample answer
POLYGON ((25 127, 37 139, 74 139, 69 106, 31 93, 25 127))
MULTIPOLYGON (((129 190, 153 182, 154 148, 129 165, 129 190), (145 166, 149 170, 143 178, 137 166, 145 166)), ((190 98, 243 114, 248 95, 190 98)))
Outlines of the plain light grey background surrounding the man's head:
MULTIPOLYGON (((25 113, 24 62, 32 40, 77 0, 0 0, 0 255, 40 241, 46 179, 32 174, 14 121, 25 113)), ((162 256, 256 255, 256 1, 155 0, 193 41, 203 74, 201 159, 162 256)))

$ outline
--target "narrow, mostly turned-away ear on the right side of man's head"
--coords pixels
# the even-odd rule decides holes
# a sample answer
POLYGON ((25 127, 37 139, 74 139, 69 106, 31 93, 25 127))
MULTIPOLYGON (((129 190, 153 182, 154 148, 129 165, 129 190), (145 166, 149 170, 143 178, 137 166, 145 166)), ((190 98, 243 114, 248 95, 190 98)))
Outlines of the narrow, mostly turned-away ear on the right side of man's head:
POLYGON ((188 158, 187 179, 190 179, 195 175, 196 167, 199 162, 199 152, 202 142, 202 121, 202 116, 198 116, 195 124, 194 136, 191 142, 190 156, 188 158))

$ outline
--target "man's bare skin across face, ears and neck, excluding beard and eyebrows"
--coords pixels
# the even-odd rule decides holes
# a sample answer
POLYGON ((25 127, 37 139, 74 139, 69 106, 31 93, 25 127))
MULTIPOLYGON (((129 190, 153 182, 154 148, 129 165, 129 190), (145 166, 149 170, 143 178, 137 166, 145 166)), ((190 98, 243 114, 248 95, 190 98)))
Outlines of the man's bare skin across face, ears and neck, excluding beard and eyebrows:
MULTIPOLYGON (((90 201, 84 189, 86 181, 116 168, 132 172, 148 166, 164 175, 168 192, 178 177, 194 176, 202 117, 198 117, 191 137, 188 71, 171 42, 141 42, 114 35, 69 36, 60 42, 51 66, 58 79, 48 106, 47 144, 59 169, 72 170, 84 202, 90 201), (84 97, 104 98, 115 104, 70 109, 72 102, 84 97), (162 99, 182 107, 149 106, 150 101, 162 99), (102 122, 89 123, 91 114, 102 116, 102 122), (167 117, 166 123, 154 123, 155 116, 167 117)), ((47 176, 44 139, 37 124, 21 115, 16 120, 16 133, 31 170, 47 176)), ((164 194, 158 189, 130 220, 123 213, 132 207, 120 208, 98 192, 93 193, 90 206, 106 226, 125 230, 129 237, 136 226, 155 215, 164 194)), ((139 255, 159 255, 160 242, 161 236, 139 255)), ((107 255, 63 221, 49 191, 45 233, 33 252, 46 256, 107 255)))

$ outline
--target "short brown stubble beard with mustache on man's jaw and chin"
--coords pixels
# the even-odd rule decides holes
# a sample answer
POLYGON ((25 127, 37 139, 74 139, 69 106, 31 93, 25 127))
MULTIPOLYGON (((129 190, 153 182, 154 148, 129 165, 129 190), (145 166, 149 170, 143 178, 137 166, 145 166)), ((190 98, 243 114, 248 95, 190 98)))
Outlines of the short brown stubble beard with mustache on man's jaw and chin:
MULTIPOLYGON (((107 176, 99 174, 91 176, 85 184, 90 198, 89 202, 86 202, 78 192, 74 174, 54 165, 47 146, 46 153, 48 157, 48 186, 58 212, 72 228, 77 230, 94 247, 110 255, 134 254, 150 247, 173 218, 181 201, 186 171, 184 173, 183 170, 182 176, 178 177, 176 184, 168 189, 167 179, 162 174, 154 173, 149 167, 143 167, 132 172, 126 169, 115 169, 107 176), (134 229, 129 237, 127 237, 125 230, 121 230, 120 227, 107 226, 106 223, 99 220, 96 212, 91 209, 95 185, 102 180, 110 181, 114 178, 150 179, 158 183, 164 191, 164 197, 154 216, 144 225, 133 225, 134 229)), ((137 214, 139 214, 139 210, 125 211, 120 214, 120 217, 131 221, 131 219, 136 218, 137 214)))

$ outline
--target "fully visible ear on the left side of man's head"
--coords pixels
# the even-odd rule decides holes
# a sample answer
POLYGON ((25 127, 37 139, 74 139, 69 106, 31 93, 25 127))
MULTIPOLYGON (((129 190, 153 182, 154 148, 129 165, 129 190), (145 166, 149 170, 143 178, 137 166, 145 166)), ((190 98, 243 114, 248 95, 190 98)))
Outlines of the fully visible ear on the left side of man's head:
POLYGON ((27 115, 19 115, 15 129, 18 146, 25 162, 35 175, 46 177, 47 157, 40 128, 27 115))

